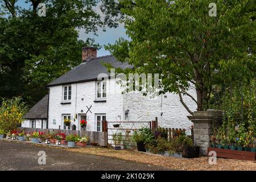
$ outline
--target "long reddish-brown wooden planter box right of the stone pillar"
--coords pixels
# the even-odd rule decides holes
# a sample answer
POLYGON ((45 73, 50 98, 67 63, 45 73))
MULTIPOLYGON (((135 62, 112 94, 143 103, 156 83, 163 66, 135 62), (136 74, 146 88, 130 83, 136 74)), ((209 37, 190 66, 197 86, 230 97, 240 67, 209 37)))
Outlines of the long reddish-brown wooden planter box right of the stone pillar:
POLYGON ((256 152, 228 150, 228 149, 222 149, 222 148, 208 147, 208 154, 210 151, 216 151, 217 157, 219 157, 219 158, 229 158, 229 159, 239 159, 239 160, 256 160, 256 152))

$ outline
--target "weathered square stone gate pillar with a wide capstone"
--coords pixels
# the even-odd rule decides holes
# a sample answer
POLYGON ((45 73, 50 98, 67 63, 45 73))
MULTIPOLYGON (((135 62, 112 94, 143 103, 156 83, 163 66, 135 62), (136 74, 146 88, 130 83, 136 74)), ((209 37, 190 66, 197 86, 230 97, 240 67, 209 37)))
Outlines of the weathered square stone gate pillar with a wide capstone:
POLYGON ((195 111, 194 115, 188 116, 188 119, 194 123, 194 144, 200 146, 201 155, 208 155, 207 148, 210 146, 213 125, 214 127, 220 126, 222 111, 195 111))

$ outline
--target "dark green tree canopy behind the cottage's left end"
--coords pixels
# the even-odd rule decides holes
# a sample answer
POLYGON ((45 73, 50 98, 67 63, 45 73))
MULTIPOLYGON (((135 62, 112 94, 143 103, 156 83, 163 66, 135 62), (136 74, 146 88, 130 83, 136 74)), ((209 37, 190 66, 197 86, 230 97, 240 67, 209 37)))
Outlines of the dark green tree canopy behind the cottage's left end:
POLYGON ((81 47, 94 44, 79 40, 79 30, 95 33, 105 23, 94 9, 98 0, 24 1, 30 9, 16 2, 0 0, 0 96, 34 105, 49 82, 81 63, 81 47), (45 17, 37 14, 42 2, 45 17))

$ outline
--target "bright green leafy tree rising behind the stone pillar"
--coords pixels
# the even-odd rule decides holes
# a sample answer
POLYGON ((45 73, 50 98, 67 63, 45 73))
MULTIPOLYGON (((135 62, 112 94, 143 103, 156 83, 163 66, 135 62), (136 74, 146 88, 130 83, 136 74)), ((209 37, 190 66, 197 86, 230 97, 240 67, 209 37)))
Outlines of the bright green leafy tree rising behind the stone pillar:
POLYGON ((247 84, 255 77, 256 1, 215 1, 217 16, 209 16, 212 1, 112 2, 121 7, 130 40, 119 39, 106 48, 134 65, 128 72, 159 73, 160 92, 179 94, 189 113, 193 111, 183 102, 184 94, 204 110, 216 86, 233 79, 247 84), (196 98, 187 92, 191 86, 196 98))

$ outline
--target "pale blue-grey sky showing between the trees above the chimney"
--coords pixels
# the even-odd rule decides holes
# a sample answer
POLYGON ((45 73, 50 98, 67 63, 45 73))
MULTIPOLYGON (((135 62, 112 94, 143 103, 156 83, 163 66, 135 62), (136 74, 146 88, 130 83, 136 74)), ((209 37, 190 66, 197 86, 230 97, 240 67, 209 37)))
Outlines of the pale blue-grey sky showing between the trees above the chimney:
MULTIPOLYGON (((30 4, 25 3, 24 0, 18 0, 16 5, 24 7, 25 9, 28 9, 30 7, 30 4)), ((98 7, 96 11, 99 11, 98 7)), ((85 34, 83 29, 80 30, 79 34, 79 39, 85 41, 87 38, 93 38, 95 39, 96 43, 99 43, 102 46, 102 48, 98 50, 97 56, 110 55, 109 51, 106 51, 104 49, 104 45, 107 45, 108 43, 113 44, 121 37, 128 39, 127 35, 125 34, 125 28, 123 27, 123 24, 119 24, 118 28, 106 28, 105 32, 102 31, 102 29, 99 29, 97 35, 98 36, 94 36, 93 34, 85 34)))

